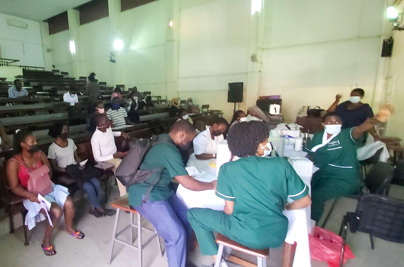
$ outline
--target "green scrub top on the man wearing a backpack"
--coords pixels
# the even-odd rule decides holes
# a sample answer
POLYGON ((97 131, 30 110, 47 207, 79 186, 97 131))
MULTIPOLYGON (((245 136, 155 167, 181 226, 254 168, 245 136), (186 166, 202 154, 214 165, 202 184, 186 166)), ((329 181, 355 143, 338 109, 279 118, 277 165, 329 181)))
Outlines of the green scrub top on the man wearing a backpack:
MULTIPOLYGON (((170 139, 168 135, 160 135, 159 139, 170 139)), ((161 178, 150 192, 149 201, 167 200, 173 195, 170 188, 171 179, 175 176, 188 175, 178 148, 171 143, 158 143, 151 147, 143 158, 140 170, 164 168, 161 178)), ((142 197, 158 174, 151 175, 145 182, 132 184, 128 188, 129 204, 133 207, 142 204, 142 197)))

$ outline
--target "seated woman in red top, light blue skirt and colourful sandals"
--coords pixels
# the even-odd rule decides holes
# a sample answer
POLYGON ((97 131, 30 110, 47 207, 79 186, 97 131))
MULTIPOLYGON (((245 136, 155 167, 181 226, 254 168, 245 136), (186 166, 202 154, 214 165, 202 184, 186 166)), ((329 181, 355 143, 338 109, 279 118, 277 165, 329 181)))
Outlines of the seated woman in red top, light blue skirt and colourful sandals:
MULTIPOLYGON (((13 158, 7 162, 7 179, 11 191, 19 196, 26 197, 23 201, 25 209, 28 210, 25 217, 25 225, 31 230, 34 228, 36 221, 46 219, 46 212, 42 209, 38 200, 38 192, 28 190, 30 174, 34 175, 34 171, 42 166, 47 166, 49 177, 52 178, 52 168, 45 153, 39 150, 38 142, 35 135, 28 130, 17 130, 14 136, 14 149, 17 152, 13 158)), ((47 178, 46 175, 42 176, 47 178)), ((48 178, 49 179, 49 178, 48 178)), ((47 181, 44 181, 47 182, 47 181)), ((48 181, 51 190, 43 197, 51 203, 50 219, 56 227, 63 213, 65 215, 66 232, 75 238, 84 238, 84 233, 73 228, 74 205, 72 198, 69 197, 69 190, 61 185, 55 185, 48 181)), ((52 245, 51 236, 55 228, 46 224, 44 239, 42 240, 42 248, 45 255, 51 256, 56 254, 56 250, 52 245)))

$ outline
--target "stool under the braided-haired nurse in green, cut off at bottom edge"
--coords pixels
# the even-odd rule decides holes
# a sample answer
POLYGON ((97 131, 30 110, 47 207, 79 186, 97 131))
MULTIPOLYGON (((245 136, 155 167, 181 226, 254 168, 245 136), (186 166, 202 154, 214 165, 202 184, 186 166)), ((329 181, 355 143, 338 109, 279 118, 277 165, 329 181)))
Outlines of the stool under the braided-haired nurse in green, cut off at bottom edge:
MULTIPOLYGON (((220 266, 220 261, 222 259, 223 255, 223 248, 227 247, 230 249, 238 250, 242 253, 246 253, 249 255, 253 255, 257 257, 257 266, 258 267, 266 267, 267 266, 267 259, 269 255, 269 249, 251 249, 247 248, 246 246, 243 246, 242 244, 237 243, 236 241, 230 240, 229 238, 223 236, 222 234, 217 234, 216 237, 216 243, 219 244, 219 250, 217 250, 217 258, 215 262, 215 267, 220 266)), ((234 256, 230 256, 229 260, 233 261, 234 259, 237 259, 237 264, 240 265, 246 265, 246 266, 251 266, 252 264, 248 261, 244 261, 242 259, 238 259, 234 256)))

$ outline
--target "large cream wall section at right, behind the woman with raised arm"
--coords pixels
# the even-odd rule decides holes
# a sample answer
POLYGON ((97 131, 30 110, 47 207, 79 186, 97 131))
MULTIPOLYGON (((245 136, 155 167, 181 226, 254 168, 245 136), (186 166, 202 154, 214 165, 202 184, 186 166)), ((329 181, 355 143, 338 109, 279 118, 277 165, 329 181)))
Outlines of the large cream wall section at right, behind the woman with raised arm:
POLYGON ((281 95, 282 114, 326 109, 337 93, 361 87, 372 105, 384 0, 267 1, 260 95, 281 95))

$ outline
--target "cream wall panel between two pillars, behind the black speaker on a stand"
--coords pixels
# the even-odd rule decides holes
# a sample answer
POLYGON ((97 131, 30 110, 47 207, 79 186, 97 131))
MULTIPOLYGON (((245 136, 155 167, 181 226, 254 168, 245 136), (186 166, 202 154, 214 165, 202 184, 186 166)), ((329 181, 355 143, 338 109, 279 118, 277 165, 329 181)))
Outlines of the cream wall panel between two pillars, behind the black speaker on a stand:
POLYGON ((250 1, 183 1, 180 23, 179 97, 231 118, 227 84, 247 79, 250 1))

